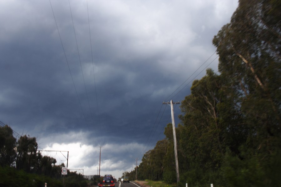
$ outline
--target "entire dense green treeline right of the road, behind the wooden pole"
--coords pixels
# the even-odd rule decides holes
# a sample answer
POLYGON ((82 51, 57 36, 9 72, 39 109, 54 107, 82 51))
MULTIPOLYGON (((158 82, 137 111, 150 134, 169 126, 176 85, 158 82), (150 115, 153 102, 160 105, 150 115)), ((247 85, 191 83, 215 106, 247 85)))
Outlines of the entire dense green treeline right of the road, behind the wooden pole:
MULTIPOLYGON (((181 186, 280 186, 281 1, 239 0, 207 70, 181 102, 176 128, 181 186)), ((145 153, 139 180, 176 182, 171 124, 145 153)), ((135 179, 136 169, 130 173, 135 179)))

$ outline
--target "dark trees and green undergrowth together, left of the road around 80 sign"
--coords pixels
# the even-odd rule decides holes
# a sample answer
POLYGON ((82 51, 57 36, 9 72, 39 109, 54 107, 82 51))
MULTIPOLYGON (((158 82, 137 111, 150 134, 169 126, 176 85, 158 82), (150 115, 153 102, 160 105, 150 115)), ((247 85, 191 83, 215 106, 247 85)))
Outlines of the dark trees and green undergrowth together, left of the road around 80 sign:
MULTIPOLYGON (((13 137, 11 127, 0 127, 0 186, 62 186, 62 167, 56 159, 42 156, 35 137, 13 137)), ((86 186, 81 174, 68 171, 66 186, 86 186)))

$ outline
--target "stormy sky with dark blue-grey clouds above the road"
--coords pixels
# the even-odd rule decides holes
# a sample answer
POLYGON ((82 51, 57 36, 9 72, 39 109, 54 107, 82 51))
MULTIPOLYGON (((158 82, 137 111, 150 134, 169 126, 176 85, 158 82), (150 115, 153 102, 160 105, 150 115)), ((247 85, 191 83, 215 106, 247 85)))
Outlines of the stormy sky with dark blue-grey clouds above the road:
MULTIPOLYGON (((69 151, 68 168, 84 175, 97 174, 102 146, 101 175, 121 177, 165 138, 163 101, 182 101, 205 68, 217 71, 212 39, 237 6, 2 0, 0 121, 36 137, 39 149, 69 151)), ((175 106, 176 124, 179 114, 175 106)), ((42 154, 66 164, 62 153, 42 154)))

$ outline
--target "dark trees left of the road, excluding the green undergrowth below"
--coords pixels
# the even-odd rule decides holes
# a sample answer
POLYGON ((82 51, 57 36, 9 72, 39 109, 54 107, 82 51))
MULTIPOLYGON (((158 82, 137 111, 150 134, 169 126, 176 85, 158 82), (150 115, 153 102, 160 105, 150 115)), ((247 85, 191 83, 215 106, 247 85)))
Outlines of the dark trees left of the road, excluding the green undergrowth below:
POLYGON ((28 173, 48 175, 50 177, 60 177, 62 165, 55 165, 56 159, 49 156, 42 156, 37 151, 38 144, 35 137, 27 135, 13 137, 11 127, 5 125, 0 127, 0 164, 12 166, 18 170, 28 173))

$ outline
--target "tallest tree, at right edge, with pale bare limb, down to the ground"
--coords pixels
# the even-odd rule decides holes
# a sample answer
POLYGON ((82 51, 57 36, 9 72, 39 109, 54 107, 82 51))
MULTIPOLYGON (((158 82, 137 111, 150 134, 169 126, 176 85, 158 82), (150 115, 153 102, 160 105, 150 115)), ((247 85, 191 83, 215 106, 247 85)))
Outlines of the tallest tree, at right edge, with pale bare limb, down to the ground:
POLYGON ((280 8, 280 1, 239 0, 231 22, 213 39, 219 71, 229 77, 226 85, 235 90, 228 97, 237 96, 245 129, 242 136, 236 136, 240 145, 228 151, 222 167, 224 181, 232 185, 271 186, 277 180, 272 178, 274 168, 281 166, 277 159, 281 148, 280 8), (275 165, 270 164, 273 160, 275 165))

